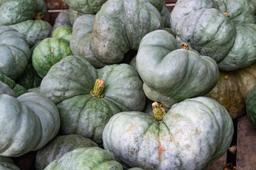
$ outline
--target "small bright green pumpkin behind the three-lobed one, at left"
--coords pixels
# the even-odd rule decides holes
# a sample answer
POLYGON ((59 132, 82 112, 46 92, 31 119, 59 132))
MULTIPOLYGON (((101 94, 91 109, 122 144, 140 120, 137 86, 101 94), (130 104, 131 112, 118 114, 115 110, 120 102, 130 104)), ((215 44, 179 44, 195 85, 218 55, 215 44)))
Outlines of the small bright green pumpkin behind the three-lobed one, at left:
POLYGON ((68 55, 72 55, 68 41, 59 38, 46 38, 36 46, 32 56, 32 64, 36 73, 44 78, 55 63, 68 55))

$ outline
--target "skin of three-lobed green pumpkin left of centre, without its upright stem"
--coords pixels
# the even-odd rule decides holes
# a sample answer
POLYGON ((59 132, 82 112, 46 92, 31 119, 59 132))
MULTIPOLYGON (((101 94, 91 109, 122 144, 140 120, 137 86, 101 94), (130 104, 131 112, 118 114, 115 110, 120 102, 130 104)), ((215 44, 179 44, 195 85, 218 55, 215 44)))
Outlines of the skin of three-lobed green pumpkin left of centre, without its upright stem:
POLYGON ((40 92, 57 104, 62 134, 81 134, 99 144, 109 118, 120 111, 142 111, 145 106, 141 80, 131 66, 95 69, 79 56, 68 56, 52 66, 40 92), (90 96, 97 78, 105 84, 103 98, 90 96))

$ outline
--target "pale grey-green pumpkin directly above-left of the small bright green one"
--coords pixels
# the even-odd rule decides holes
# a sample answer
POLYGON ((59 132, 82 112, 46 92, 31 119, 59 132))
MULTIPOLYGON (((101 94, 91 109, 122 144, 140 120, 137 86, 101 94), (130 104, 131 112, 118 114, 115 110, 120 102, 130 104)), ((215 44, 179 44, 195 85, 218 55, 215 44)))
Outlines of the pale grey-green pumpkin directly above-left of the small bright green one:
POLYGON ((26 20, 19 24, 10 25, 26 37, 29 46, 49 36, 52 26, 44 20, 26 20))

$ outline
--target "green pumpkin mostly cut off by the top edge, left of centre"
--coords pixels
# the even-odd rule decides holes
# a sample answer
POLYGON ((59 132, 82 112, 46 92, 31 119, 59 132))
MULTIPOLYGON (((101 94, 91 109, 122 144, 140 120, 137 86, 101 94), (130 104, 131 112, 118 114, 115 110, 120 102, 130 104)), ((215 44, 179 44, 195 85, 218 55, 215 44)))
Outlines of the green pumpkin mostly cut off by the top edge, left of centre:
POLYGON ((107 0, 63 0, 72 9, 82 13, 97 13, 107 0))

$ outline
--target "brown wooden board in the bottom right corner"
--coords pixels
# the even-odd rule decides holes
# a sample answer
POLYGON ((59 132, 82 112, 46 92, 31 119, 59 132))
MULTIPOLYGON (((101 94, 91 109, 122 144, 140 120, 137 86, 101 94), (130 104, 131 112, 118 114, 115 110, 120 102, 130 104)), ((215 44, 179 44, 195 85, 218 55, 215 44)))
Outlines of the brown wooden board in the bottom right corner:
POLYGON ((256 129, 247 115, 238 119, 236 166, 239 170, 256 169, 256 129))

